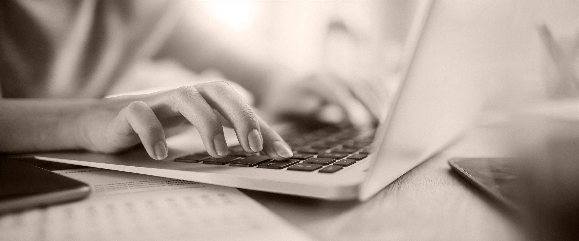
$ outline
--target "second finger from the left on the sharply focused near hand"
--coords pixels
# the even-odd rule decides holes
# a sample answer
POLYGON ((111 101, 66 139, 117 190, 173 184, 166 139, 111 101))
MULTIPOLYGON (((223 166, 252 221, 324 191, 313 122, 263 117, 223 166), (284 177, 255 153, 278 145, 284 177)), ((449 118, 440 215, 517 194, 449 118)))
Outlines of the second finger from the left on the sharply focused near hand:
POLYGON ((197 128, 208 154, 215 158, 226 156, 228 149, 221 122, 199 90, 184 86, 171 93, 173 101, 170 108, 175 108, 173 111, 185 116, 197 128))

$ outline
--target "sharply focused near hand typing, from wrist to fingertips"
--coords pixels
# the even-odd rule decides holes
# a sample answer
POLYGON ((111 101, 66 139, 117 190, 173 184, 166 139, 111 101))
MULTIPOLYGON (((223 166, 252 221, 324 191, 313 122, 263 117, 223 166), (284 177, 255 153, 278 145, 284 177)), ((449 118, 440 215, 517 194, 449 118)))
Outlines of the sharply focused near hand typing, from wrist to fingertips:
POLYGON ((228 154, 222 124, 233 127, 246 152, 263 150, 276 160, 292 156, 285 141, 222 81, 104 99, 81 121, 80 146, 94 152, 114 153, 142 143, 151 158, 164 159, 164 128, 190 122, 215 158, 228 154))

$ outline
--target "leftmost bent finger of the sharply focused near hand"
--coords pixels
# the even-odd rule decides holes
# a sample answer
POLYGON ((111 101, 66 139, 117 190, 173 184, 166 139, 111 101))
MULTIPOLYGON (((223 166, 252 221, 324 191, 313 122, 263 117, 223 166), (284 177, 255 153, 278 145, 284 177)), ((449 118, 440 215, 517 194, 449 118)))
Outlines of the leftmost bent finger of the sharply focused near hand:
POLYGON ((136 133, 151 158, 167 158, 163 126, 151 107, 143 101, 133 101, 121 109, 112 123, 119 134, 129 136, 136 133))

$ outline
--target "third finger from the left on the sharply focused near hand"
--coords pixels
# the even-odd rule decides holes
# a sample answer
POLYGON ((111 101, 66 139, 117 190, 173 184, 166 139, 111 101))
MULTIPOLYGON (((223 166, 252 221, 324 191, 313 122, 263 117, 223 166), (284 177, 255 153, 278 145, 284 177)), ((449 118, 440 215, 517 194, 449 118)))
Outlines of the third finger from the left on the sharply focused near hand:
POLYGON ((245 151, 262 151, 263 137, 257 115, 228 83, 217 81, 195 87, 207 103, 233 126, 245 151))

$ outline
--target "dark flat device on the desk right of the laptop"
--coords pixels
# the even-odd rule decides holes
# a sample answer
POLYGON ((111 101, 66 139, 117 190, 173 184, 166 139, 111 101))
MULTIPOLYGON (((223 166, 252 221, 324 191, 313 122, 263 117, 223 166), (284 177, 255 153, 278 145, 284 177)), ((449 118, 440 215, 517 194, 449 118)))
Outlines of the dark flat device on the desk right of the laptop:
POLYGON ((521 178, 516 174, 514 159, 510 158, 455 158, 450 166, 482 191, 510 207, 521 211, 521 178))

